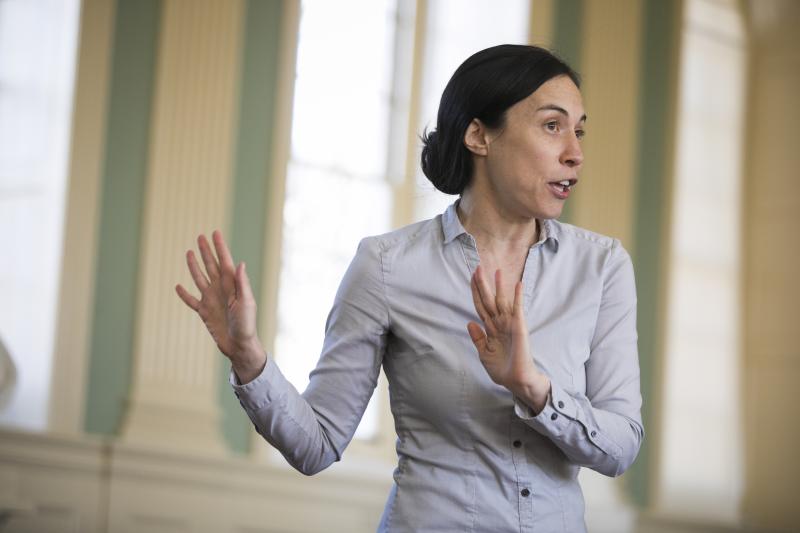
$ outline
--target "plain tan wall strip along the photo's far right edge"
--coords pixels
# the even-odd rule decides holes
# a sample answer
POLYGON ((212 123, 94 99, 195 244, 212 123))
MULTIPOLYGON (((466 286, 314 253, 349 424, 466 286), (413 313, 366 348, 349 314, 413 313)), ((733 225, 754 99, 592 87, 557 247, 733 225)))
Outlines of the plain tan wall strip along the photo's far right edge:
POLYGON ((800 526, 800 2, 750 0, 744 212, 745 520, 800 526))

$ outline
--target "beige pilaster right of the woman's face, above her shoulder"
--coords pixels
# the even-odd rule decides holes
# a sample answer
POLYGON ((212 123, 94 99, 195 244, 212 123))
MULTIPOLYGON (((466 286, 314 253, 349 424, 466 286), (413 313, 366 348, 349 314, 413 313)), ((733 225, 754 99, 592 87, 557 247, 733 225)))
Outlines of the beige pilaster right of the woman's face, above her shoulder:
POLYGON ((587 165, 572 206, 578 226, 620 239, 632 255, 642 11, 640 0, 586 2, 581 75, 587 165))

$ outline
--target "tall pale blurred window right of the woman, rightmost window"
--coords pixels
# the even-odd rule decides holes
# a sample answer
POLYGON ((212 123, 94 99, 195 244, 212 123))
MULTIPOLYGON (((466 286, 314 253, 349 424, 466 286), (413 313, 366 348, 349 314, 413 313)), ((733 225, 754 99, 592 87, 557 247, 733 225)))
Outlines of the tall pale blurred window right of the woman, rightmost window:
POLYGON ((660 505, 737 521, 745 42, 735 0, 683 22, 664 376, 660 505))

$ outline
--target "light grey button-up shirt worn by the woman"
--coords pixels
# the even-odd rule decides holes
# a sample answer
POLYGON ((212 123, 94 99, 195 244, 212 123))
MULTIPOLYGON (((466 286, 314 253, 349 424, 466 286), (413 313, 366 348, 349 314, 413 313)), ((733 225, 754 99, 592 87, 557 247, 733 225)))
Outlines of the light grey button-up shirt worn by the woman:
POLYGON ((551 395, 534 416, 481 366, 470 276, 480 259, 456 203, 361 241, 302 394, 269 359, 231 383, 258 432, 298 470, 339 460, 383 366, 398 465, 379 531, 585 531, 585 466, 617 476, 644 434, 636 291, 616 239, 541 221, 523 272, 532 356, 551 395))

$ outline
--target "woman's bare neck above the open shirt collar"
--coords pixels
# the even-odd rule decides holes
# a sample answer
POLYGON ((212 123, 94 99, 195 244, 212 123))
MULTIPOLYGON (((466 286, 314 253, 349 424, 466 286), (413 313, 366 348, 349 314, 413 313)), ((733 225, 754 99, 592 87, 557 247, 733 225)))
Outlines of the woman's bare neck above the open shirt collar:
POLYGON ((528 249, 539 238, 535 218, 520 217, 504 209, 490 191, 465 190, 456 212, 461 225, 478 242, 479 248, 507 250, 528 249))

